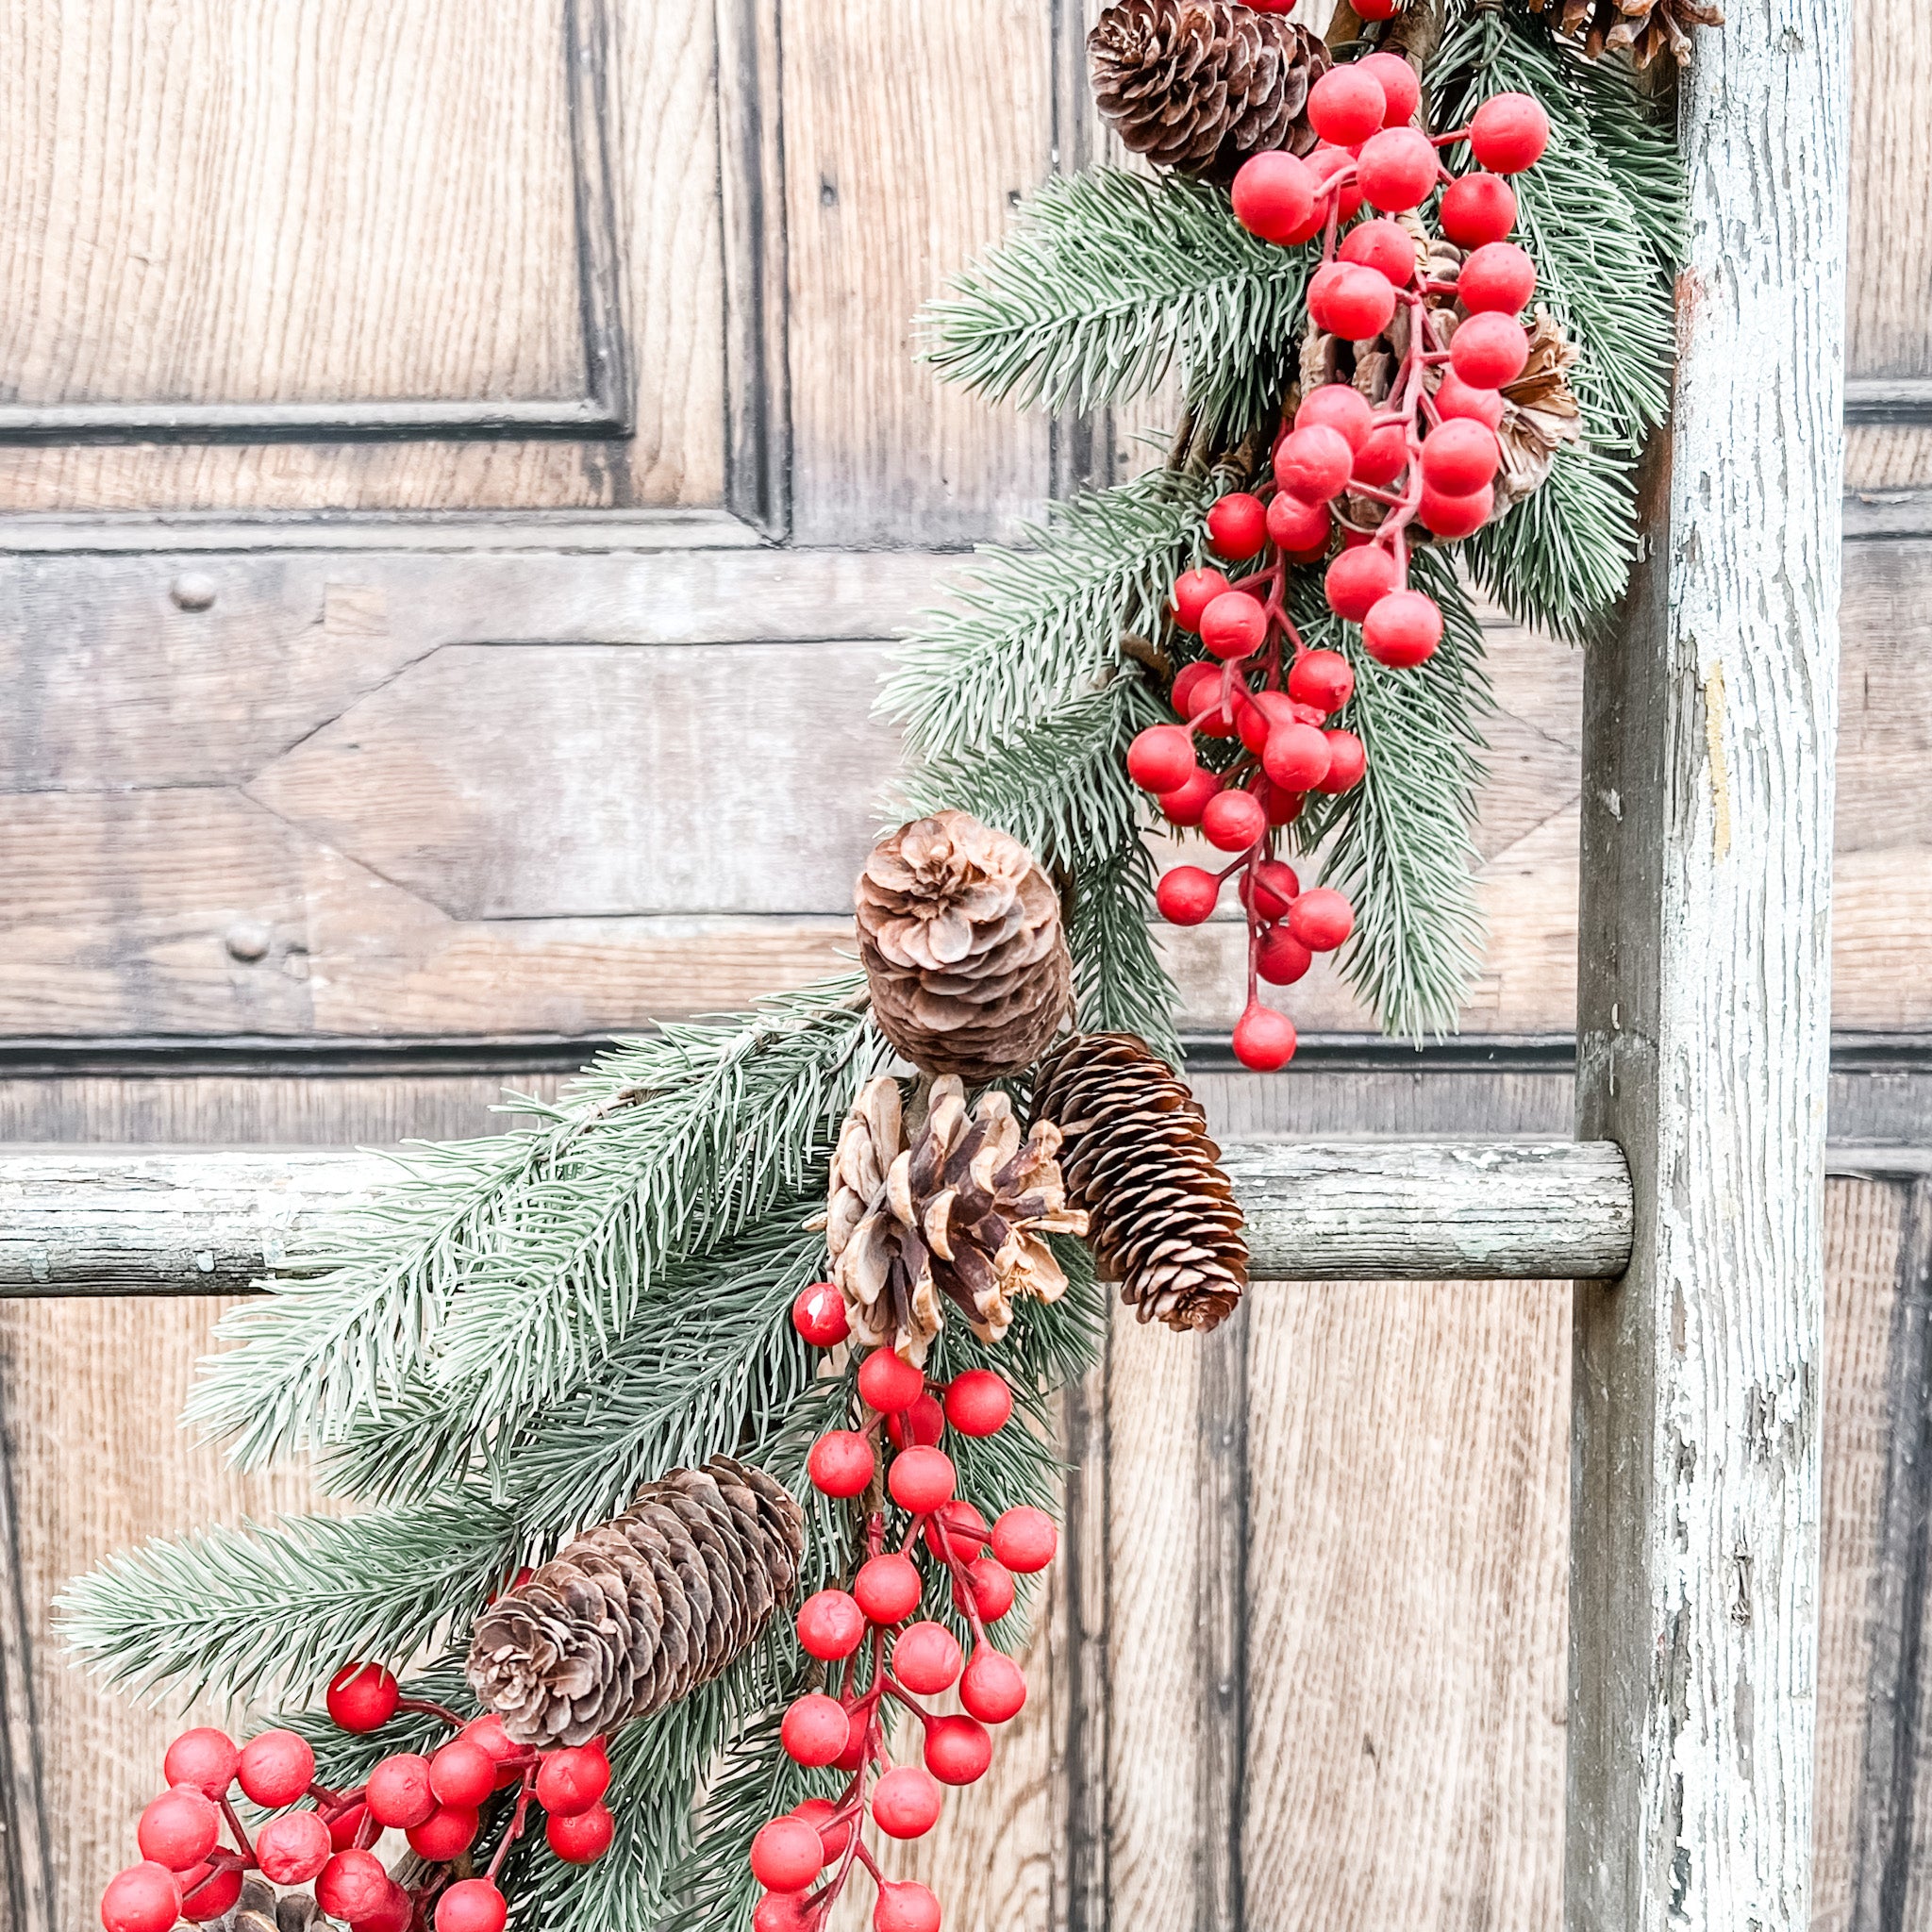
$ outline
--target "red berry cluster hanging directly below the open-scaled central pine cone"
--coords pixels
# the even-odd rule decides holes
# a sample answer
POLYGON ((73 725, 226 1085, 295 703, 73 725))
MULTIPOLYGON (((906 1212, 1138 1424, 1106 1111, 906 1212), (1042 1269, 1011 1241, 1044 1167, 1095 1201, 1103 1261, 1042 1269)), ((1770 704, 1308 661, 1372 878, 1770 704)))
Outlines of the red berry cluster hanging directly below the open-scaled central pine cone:
MULTIPOLYGON (((833 1347, 844 1337, 838 1291, 829 1283, 806 1289, 794 1321, 808 1341, 833 1347)), ((827 1665, 827 1689, 798 1698, 779 1735, 794 1762, 846 1772, 848 1781, 837 1799, 808 1799, 752 1839, 752 1876, 765 1888, 753 1932, 821 1928, 854 1862, 877 1888, 873 1932, 939 1932, 939 1899, 925 1886, 887 1880, 866 1849, 866 1812, 887 1837, 923 1837, 939 1822, 941 1787, 970 1785, 993 1762, 987 1725, 1018 1716, 1026 1702, 1020 1667, 985 1627, 1012 1607, 1016 1571, 1030 1575, 1053 1561, 1053 1520, 1037 1509, 1009 1509, 987 1526, 956 1493, 952 1459, 939 1447, 949 1426, 962 1435, 1005 1428, 1012 1391, 987 1368, 935 1391, 889 1349, 860 1364, 858 1391, 866 1426, 831 1430, 813 1443, 811 1482, 825 1495, 862 1495, 891 1445, 885 1492, 910 1524, 889 1549, 887 1519, 875 1509, 850 1588, 819 1590, 798 1611, 798 1642, 827 1665), (952 1607, 972 1631, 970 1658, 952 1631, 918 1615, 933 1565, 951 1578, 952 1607), (954 1687, 964 1714, 941 1716, 920 1702, 954 1687), (893 1764, 887 1702, 918 1716, 923 1764, 893 1764)))

